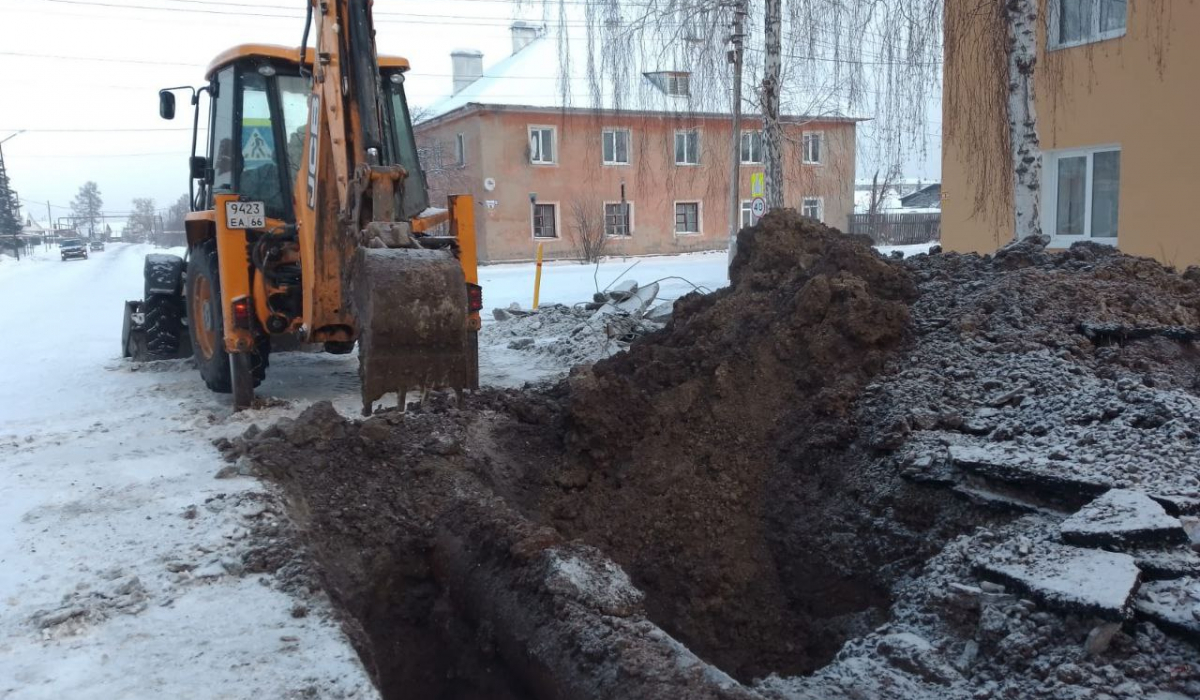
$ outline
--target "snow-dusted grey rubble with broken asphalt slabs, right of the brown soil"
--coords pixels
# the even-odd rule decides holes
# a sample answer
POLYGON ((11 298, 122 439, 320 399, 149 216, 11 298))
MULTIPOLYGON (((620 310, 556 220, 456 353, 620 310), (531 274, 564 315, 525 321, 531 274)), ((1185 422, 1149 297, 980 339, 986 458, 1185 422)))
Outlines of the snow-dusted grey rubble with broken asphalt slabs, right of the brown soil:
POLYGON ((780 696, 1200 698, 1200 274, 1044 243, 906 261, 916 342, 859 405, 906 478, 1027 515, 780 696))

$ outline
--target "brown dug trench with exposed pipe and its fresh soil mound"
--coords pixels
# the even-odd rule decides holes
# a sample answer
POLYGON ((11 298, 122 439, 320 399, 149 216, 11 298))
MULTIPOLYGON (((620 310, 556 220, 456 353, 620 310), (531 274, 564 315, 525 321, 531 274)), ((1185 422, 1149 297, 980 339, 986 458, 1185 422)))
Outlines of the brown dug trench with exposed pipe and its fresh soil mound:
POLYGON ((1008 517, 901 480, 857 409, 911 340, 900 265, 784 214, 731 276, 552 389, 364 423, 317 405, 235 443, 385 698, 737 696, 725 674, 812 672, 1008 517))

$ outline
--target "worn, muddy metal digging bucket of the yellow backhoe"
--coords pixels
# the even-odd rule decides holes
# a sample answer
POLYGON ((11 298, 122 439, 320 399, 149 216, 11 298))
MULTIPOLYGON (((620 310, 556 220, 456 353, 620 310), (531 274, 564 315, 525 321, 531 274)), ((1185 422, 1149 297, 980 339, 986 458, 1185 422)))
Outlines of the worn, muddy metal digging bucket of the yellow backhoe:
POLYGON ((403 406, 409 389, 468 387, 467 282, 454 255, 360 247, 350 286, 364 415, 389 391, 403 406))

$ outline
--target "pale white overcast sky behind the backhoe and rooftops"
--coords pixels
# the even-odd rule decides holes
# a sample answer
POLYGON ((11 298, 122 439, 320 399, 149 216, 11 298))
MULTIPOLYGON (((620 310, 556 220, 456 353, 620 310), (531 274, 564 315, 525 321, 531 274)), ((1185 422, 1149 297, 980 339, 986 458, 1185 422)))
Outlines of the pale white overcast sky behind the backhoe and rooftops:
MULTIPOLYGON (((190 106, 174 121, 157 90, 203 82, 221 50, 247 42, 295 46, 304 0, 0 0, 0 139, 24 214, 54 217, 86 180, 108 213, 134 197, 166 208, 187 191, 190 106)), ((509 24, 542 18, 536 0, 376 0, 380 53, 413 65, 409 102, 450 91, 450 50, 475 48, 488 66, 511 52, 509 24)), ((554 80, 557 66, 546 66, 554 80)), ((514 88, 515 92, 520 86, 514 88)), ((203 146, 200 148, 203 152, 203 146)), ((936 178, 936 154, 912 175, 936 178)))

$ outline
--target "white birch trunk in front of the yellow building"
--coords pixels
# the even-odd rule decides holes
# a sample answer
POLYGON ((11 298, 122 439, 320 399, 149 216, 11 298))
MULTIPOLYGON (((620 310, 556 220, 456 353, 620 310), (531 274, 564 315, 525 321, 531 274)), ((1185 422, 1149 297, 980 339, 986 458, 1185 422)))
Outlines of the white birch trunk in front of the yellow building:
POLYGON ((1016 238, 1042 234, 1042 140, 1033 102, 1037 0, 1008 0, 1008 127, 1016 238))

